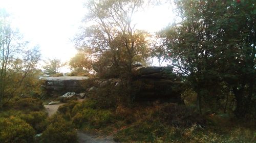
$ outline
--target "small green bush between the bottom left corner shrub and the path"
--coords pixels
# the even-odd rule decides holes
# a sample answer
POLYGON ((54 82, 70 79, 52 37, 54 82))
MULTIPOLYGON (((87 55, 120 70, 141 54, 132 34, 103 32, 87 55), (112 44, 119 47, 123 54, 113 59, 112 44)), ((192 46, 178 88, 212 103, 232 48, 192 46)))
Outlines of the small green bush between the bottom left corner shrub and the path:
POLYGON ((32 126, 36 133, 41 133, 46 129, 48 115, 45 111, 32 111, 29 114, 22 114, 19 117, 32 126))

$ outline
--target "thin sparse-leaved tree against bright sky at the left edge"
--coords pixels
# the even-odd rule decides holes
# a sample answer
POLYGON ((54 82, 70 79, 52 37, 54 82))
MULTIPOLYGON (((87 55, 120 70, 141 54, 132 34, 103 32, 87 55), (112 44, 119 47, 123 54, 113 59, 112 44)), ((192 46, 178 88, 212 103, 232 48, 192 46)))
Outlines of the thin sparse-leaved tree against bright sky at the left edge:
POLYGON ((0 10, 0 108, 15 95, 23 94, 24 81, 40 60, 38 47, 26 49, 28 42, 11 28, 8 17, 0 10))

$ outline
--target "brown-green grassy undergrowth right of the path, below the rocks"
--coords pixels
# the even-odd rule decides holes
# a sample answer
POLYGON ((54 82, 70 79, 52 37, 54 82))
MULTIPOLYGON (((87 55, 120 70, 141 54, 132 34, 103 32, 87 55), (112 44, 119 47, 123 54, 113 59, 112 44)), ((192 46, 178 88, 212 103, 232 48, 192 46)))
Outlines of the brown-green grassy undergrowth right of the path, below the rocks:
POLYGON ((63 117, 89 133, 113 135, 118 142, 255 142, 255 124, 215 115, 174 103, 135 103, 115 108, 87 99, 59 108, 63 117))

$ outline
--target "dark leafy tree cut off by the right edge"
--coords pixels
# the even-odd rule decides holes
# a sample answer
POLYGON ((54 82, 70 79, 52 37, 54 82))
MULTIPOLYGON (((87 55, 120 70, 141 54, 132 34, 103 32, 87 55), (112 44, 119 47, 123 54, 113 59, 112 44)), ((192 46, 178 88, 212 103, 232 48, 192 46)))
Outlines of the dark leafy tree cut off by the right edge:
POLYGON ((254 1, 228 2, 222 21, 218 54, 219 73, 227 82, 237 101, 235 113, 239 118, 255 110, 256 82, 256 10, 254 1), (254 105, 254 109, 252 106, 254 105))

